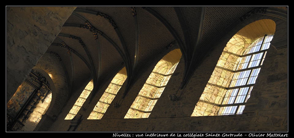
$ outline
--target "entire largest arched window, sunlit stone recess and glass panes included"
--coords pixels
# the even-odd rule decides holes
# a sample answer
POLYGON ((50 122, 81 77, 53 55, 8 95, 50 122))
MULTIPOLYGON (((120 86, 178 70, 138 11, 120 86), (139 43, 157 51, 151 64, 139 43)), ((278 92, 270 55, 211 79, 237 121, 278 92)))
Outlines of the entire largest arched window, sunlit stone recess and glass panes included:
POLYGON ((239 30, 224 48, 191 116, 243 113, 274 33, 269 19, 239 30))

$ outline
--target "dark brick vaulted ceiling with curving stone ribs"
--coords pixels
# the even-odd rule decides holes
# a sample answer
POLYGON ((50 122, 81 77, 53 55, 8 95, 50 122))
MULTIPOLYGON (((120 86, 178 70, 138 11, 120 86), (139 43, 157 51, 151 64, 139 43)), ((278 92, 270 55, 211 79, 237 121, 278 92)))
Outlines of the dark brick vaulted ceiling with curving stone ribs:
POLYGON ((173 45, 180 48, 189 74, 191 61, 196 67, 221 34, 255 8, 77 7, 47 52, 62 59, 70 90, 89 78, 98 90, 123 66, 131 84, 150 61, 173 45))

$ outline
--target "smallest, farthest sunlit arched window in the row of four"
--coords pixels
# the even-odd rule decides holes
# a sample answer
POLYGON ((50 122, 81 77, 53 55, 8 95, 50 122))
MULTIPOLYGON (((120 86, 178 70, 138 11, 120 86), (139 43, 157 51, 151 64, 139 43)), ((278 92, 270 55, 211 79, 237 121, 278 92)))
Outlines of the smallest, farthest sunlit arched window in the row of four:
POLYGON ((77 98, 77 101, 74 103, 74 106, 70 109, 70 112, 64 118, 65 120, 71 120, 77 115, 77 112, 81 109, 81 107, 83 106, 84 102, 86 101, 86 99, 88 98, 92 90, 93 90, 93 80, 91 80, 87 84, 87 86, 85 87, 85 89, 83 90, 79 98, 77 98))

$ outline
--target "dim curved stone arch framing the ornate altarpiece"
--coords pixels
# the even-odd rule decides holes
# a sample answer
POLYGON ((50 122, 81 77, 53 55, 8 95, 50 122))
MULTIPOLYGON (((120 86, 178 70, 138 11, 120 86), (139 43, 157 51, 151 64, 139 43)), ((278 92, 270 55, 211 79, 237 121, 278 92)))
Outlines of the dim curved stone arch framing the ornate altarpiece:
POLYGON ((52 99, 47 112, 39 120, 34 131, 47 131, 67 102, 70 87, 69 79, 66 76, 66 70, 61 58, 50 53, 45 53, 33 69, 40 71, 48 80, 52 92, 52 99))

